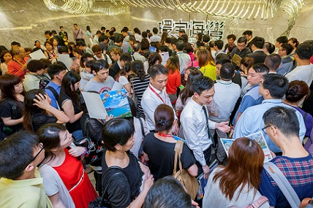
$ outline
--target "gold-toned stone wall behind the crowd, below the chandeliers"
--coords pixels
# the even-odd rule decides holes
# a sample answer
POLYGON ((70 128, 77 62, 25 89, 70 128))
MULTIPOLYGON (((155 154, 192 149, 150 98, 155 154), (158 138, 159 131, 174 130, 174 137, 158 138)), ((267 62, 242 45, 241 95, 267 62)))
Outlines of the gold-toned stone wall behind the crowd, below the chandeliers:
MULTIPOLYGON (((304 8, 299 13, 295 26, 290 32, 290 37, 296 37, 300 42, 312 38, 313 27, 310 24, 313 20, 312 9, 313 2, 304 0, 304 8)), ((92 32, 95 33, 101 26, 106 28, 115 26, 117 31, 120 31, 123 26, 129 28, 138 27, 142 31, 147 28, 152 30, 164 18, 171 18, 175 21, 178 21, 180 18, 183 21, 193 19, 216 20, 216 18, 201 13, 184 13, 168 9, 130 7, 129 11, 129 13, 117 16, 106 16, 101 13, 78 15, 65 11, 49 11, 43 4, 43 0, 1 0, 0 45, 5 45, 9 48, 13 40, 20 42, 23 47, 32 46, 34 40, 40 40, 43 43, 46 40, 44 31, 55 30, 58 32, 59 26, 64 26, 65 31, 69 33, 69 38, 73 40, 71 33, 73 23, 78 23, 80 28, 84 30, 85 26, 89 25, 92 32)), ((267 21, 242 19, 235 25, 233 22, 227 22, 224 40, 230 31, 234 32, 235 35, 240 35, 243 31, 251 29, 253 35, 260 35, 266 40, 273 42, 287 28, 287 14, 280 9, 275 18, 267 19, 267 21)))

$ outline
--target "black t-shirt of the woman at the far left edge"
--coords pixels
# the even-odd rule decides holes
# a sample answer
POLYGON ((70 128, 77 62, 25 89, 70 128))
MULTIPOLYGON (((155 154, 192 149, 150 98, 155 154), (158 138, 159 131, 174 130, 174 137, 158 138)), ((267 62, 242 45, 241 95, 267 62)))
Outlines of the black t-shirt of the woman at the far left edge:
MULTIPOLYGON (((15 102, 12 99, 3 99, 0 102, 0 119, 2 118, 9 118, 11 117, 11 119, 21 119, 22 117, 22 109, 21 106, 23 106, 24 102, 15 102)), ((7 126, 8 129, 4 130, 4 123, 1 119, 1 131, 2 133, 4 133, 6 136, 10 136, 12 133, 16 133, 17 131, 20 131, 21 129, 23 129, 23 123, 20 124, 16 124, 14 126, 7 126)), ((2 135, 1 133, 1 135, 2 135)), ((4 138, 6 137, 4 136, 4 138)), ((2 136, 1 136, 2 137, 2 136)), ((3 138, 0 138, 0 141, 3 138)))

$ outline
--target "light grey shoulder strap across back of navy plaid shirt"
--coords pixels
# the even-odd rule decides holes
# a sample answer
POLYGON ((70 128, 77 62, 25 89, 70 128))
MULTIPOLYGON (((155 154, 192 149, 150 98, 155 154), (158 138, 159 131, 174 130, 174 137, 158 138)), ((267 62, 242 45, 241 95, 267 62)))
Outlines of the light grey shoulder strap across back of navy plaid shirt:
POLYGON ((264 163, 264 168, 285 195, 291 207, 299 207, 301 202, 293 187, 277 166, 272 162, 264 163))

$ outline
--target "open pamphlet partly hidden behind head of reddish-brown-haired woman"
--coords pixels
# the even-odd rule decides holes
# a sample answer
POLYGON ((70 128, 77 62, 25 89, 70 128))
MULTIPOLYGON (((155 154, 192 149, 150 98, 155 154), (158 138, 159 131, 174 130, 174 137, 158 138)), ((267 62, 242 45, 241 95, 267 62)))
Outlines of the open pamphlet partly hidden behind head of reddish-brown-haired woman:
MULTIPOLYGON (((267 143, 265 141, 265 138, 262 134, 262 131, 258 131, 256 133, 252 133, 248 136, 245 136, 245 137, 248 137, 256 142, 258 142, 258 144, 261 146, 263 152, 264 152, 264 155, 265 155, 265 158, 264 158, 264 163, 272 160, 272 155, 270 153, 270 148, 268 148, 267 146, 267 143)), ((230 146, 233 144, 235 140, 233 139, 230 139, 230 138, 221 138, 221 142, 223 144, 223 148, 224 150, 226 151, 226 154, 228 156, 228 150, 230 148, 230 146)))

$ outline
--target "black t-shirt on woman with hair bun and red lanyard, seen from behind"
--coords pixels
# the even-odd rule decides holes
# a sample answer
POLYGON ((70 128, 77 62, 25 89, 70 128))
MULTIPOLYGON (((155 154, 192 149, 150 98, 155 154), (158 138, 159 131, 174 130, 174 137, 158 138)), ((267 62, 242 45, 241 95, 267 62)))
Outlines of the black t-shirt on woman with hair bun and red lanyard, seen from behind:
MULTIPOLYGON (((161 141, 154 136, 154 133, 149 133, 144 138, 143 150, 149 157, 149 168, 154 176, 154 180, 158 180, 167 175, 173 174, 175 160, 175 145, 176 143, 167 143, 161 141)), ((181 164, 183 169, 187 170, 191 165, 195 164, 196 160, 184 144, 183 153, 181 153, 181 164)), ((177 169, 179 170, 179 160, 177 160, 177 169)))

